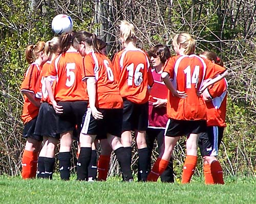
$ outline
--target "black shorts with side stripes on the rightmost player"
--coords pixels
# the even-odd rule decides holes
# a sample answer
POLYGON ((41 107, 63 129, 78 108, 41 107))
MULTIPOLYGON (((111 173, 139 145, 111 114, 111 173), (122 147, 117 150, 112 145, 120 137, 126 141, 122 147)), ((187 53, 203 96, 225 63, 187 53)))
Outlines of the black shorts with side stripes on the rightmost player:
POLYGON ((218 150, 223 138, 224 127, 208 126, 207 133, 199 137, 198 146, 201 156, 218 156, 218 150))

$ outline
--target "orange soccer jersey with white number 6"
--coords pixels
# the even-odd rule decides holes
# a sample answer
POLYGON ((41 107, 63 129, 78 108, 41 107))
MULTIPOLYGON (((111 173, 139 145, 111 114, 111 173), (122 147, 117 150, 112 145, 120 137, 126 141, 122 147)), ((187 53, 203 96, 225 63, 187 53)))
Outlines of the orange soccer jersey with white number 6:
POLYGON ((96 80, 95 106, 102 109, 123 108, 111 61, 102 54, 92 52, 84 57, 84 65, 83 80, 90 77, 96 80))

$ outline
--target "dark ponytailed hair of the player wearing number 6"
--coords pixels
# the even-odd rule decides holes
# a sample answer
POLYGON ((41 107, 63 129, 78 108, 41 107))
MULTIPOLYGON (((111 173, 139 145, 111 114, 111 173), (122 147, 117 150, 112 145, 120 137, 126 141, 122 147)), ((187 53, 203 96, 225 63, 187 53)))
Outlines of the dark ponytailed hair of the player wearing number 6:
POLYGON ((74 38, 74 47, 77 49, 82 41, 86 42, 89 46, 92 46, 94 52, 101 53, 97 45, 97 37, 95 34, 86 31, 77 32, 74 38))

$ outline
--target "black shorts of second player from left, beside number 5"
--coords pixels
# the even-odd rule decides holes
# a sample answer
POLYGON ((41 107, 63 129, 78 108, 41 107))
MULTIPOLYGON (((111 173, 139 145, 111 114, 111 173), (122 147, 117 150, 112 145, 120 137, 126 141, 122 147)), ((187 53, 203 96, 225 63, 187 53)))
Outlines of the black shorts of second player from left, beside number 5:
POLYGON ((53 106, 46 102, 42 103, 37 116, 34 134, 59 139, 58 119, 59 116, 55 113, 53 106))

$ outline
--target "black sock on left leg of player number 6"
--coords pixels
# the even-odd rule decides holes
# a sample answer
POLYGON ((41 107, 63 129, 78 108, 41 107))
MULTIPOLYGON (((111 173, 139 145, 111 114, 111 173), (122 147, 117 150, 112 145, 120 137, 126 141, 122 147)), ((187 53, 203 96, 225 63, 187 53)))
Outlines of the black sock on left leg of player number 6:
POLYGON ((77 160, 77 180, 88 181, 88 167, 92 157, 91 147, 81 147, 80 154, 77 160))

